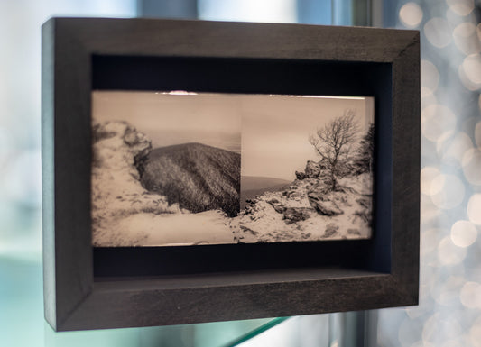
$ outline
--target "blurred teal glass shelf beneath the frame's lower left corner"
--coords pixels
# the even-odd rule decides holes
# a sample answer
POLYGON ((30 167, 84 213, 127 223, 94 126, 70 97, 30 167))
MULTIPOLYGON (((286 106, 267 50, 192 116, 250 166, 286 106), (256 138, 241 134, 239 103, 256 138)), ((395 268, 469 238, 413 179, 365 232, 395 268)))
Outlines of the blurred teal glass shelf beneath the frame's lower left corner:
POLYGON ((43 319, 42 253, 0 253, 0 335, 5 346, 227 347, 286 318, 55 333, 43 319), (26 333, 28 332, 28 333, 26 333))

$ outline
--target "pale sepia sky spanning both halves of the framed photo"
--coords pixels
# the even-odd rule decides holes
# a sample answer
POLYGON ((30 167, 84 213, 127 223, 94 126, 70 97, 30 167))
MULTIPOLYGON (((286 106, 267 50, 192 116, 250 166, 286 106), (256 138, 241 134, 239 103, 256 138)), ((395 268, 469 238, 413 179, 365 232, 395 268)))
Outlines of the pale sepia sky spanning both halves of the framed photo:
POLYGON ((287 180, 319 160, 310 133, 349 109, 363 133, 374 121, 373 98, 106 91, 92 98, 94 121, 132 123, 153 147, 201 142, 241 152, 243 176, 287 180))

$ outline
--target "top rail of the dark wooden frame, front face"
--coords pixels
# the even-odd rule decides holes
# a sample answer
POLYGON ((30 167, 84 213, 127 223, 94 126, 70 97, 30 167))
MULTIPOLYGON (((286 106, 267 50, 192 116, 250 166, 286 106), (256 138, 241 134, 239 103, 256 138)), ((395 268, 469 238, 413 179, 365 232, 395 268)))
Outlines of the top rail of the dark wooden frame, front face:
POLYGON ((139 51, 143 56, 299 59, 301 54, 306 60, 390 63, 410 40, 412 32, 369 27, 146 18, 58 20, 66 30, 75 32, 80 41, 88 42, 90 52, 127 56, 139 51), (132 40, 133 32, 149 36, 151 40, 132 40), (350 45, 345 45, 346 41, 350 45))

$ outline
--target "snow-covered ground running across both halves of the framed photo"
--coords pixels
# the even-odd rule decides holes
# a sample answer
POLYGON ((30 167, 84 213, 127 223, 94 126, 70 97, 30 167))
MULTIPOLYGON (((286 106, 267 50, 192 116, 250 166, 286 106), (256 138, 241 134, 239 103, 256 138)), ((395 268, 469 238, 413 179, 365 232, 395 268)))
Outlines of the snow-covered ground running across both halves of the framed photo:
MULTIPOLYGON (((372 177, 367 174, 339 179, 346 192, 328 196, 342 215, 319 215, 310 205, 308 191, 320 179, 294 181, 293 194, 266 192, 258 196, 254 212, 235 218, 220 210, 190 214, 179 205, 169 205, 165 196, 144 189, 134 158, 150 151, 151 143, 127 123, 105 123, 93 145, 92 233, 93 244, 115 246, 171 246, 236 242, 300 242, 333 239, 364 239, 371 227, 362 213, 370 213, 360 199, 372 202, 372 177), (295 188, 294 188, 295 186, 295 188), (297 190, 296 190, 297 189, 297 190), (273 199, 284 207, 301 209, 308 217, 286 224, 273 199), (364 209, 364 210, 363 210, 364 209), (361 214, 360 214, 361 213, 361 214)), ((366 203, 364 203, 366 204, 366 203)))

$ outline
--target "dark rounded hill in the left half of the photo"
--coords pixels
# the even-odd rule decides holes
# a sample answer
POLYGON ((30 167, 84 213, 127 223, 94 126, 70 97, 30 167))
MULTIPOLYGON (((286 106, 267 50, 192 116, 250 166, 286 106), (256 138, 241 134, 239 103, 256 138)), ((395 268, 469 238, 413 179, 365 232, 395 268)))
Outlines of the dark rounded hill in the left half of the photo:
POLYGON ((143 187, 190 212, 240 211, 240 154, 201 143, 151 151, 140 163, 143 187))

